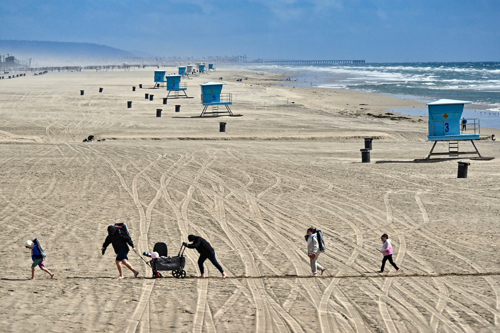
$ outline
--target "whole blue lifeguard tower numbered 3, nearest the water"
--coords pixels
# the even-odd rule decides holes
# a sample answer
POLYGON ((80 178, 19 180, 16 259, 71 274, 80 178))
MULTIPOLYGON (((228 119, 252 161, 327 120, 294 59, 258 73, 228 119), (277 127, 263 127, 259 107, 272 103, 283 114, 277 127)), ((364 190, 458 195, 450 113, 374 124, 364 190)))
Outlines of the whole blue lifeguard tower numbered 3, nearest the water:
MULTIPOLYGON (((477 154, 479 157, 471 159, 492 159, 494 157, 483 157, 477 150, 474 140, 479 139, 479 119, 462 117, 463 105, 472 102, 454 99, 437 99, 427 103, 428 108, 428 128, 427 139, 434 141, 430 152, 425 159, 415 159, 415 161, 429 161, 430 156, 448 155, 446 159, 463 158, 459 155, 477 154), (470 140, 474 151, 460 151, 458 145, 460 141, 470 140), (446 141, 448 151, 433 152, 438 141, 446 141)), ((438 158, 435 158, 438 159, 438 158)))

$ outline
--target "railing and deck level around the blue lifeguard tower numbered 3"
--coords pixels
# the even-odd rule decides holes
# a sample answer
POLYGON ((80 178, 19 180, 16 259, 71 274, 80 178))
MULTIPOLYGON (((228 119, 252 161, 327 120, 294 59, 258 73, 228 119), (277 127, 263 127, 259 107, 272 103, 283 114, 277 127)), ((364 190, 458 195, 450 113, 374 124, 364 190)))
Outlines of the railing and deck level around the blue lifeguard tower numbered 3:
POLYGON ((479 119, 429 120, 429 141, 473 140, 479 138, 479 119), (466 120, 464 123, 463 120, 466 120))

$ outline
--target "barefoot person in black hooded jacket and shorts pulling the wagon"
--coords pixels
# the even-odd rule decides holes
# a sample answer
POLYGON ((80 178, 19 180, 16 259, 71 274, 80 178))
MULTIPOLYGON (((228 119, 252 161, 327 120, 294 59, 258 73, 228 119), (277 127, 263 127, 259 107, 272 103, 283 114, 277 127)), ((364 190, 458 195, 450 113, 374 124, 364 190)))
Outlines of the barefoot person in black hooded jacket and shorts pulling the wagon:
POLYGON ((116 268, 118 268, 118 272, 120 273, 118 278, 124 277, 121 267, 122 263, 133 272, 133 277, 137 277, 139 272, 133 269, 132 265, 127 261, 128 245, 132 247, 134 252, 136 252, 135 247, 133 247, 132 238, 130 238, 128 232, 122 232, 122 230, 126 230, 126 226, 124 226, 124 228, 120 228, 114 225, 109 225, 107 227, 107 237, 100 250, 102 255, 104 255, 107 245, 113 245, 114 253, 116 253, 116 259, 114 262, 116 263, 116 268))

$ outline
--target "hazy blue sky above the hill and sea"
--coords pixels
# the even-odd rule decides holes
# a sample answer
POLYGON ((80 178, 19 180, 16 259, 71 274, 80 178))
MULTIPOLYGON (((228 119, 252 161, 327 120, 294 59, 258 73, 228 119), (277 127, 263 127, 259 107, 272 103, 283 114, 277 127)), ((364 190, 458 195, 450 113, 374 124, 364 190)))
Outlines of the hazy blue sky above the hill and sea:
POLYGON ((500 60, 500 0, 0 1, 0 24, 157 56, 500 60))

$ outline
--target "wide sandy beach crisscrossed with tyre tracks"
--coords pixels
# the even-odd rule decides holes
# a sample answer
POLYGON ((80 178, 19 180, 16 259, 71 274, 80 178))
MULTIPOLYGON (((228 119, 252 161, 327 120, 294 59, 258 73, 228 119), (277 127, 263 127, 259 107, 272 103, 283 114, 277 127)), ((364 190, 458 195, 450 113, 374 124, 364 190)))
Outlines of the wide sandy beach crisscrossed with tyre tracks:
POLYGON ((496 158, 464 158, 457 178, 457 160, 413 162, 432 146, 425 117, 386 114, 425 108, 415 100, 217 68, 182 79, 193 98, 163 104, 153 71, 0 80, 0 331, 500 331, 499 141, 486 137, 500 130, 476 142, 496 158), (206 81, 227 83, 242 116, 193 117, 206 81), (164 241, 173 256, 200 235, 228 277, 206 261, 198 278, 186 249, 183 279, 151 278, 132 251, 138 278, 118 279, 112 248, 100 252, 115 222, 139 253, 164 241), (317 277, 310 226, 327 246, 317 277), (402 272, 376 272, 382 233, 402 272), (28 280, 35 237, 53 279, 36 268, 28 280))

